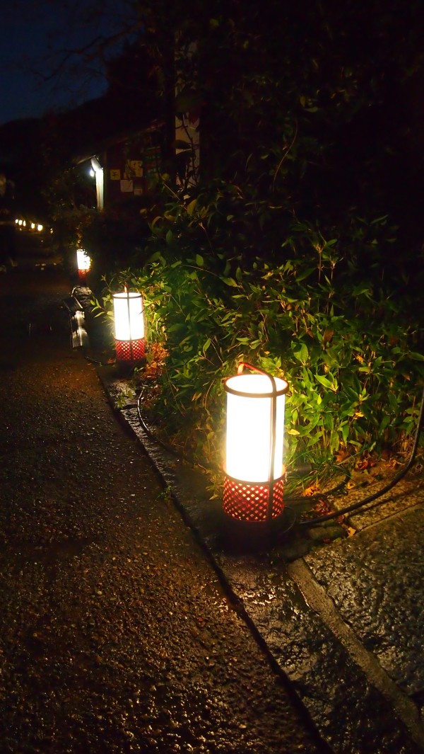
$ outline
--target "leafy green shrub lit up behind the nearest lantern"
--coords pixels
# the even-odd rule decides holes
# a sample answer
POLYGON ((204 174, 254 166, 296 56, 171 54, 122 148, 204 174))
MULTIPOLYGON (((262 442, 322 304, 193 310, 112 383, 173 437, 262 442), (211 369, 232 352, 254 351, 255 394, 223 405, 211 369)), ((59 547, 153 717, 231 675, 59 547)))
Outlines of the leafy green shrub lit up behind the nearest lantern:
MULTIPOLYGON (((212 250, 206 222, 211 228, 221 201, 228 203, 222 192, 214 201, 169 207, 152 224, 148 263, 118 276, 143 293, 148 342, 169 352, 155 406, 168 437, 200 461, 221 464, 223 378, 244 360, 288 380, 288 465, 328 463, 341 449, 403 448, 424 375, 413 302, 395 298, 373 259, 368 269, 358 262, 355 240, 350 247, 325 241, 306 223, 292 223, 279 248, 268 250, 270 261, 226 250, 234 237, 222 223, 212 250)), ((358 224, 362 252, 367 233, 390 230, 385 218, 358 224)))

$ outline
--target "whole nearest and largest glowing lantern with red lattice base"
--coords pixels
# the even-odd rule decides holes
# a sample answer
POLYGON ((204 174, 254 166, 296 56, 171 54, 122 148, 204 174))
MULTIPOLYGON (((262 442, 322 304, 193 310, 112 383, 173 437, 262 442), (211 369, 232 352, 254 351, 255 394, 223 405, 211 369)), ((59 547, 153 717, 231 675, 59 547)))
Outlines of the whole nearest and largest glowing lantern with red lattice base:
POLYGON ((223 508, 231 518, 270 522, 284 510, 282 463, 288 383, 241 363, 225 381, 227 440, 223 508), (247 367, 252 372, 245 372, 247 367))

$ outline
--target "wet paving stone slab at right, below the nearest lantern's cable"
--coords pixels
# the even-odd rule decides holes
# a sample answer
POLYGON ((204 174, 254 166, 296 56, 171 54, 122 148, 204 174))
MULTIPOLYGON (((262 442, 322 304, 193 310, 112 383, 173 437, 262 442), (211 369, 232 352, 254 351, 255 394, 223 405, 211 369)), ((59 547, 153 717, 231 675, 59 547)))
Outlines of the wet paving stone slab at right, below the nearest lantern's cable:
POLYGON ((424 688, 424 507, 305 560, 341 617, 407 694, 424 688))

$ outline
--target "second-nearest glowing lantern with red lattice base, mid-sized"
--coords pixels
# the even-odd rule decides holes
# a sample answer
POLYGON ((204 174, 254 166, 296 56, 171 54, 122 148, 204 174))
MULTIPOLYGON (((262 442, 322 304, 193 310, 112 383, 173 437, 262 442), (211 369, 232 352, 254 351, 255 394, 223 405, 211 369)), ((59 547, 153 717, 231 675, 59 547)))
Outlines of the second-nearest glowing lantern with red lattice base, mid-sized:
POLYGON ((136 362, 145 356, 145 320, 141 293, 114 293, 117 361, 136 362))

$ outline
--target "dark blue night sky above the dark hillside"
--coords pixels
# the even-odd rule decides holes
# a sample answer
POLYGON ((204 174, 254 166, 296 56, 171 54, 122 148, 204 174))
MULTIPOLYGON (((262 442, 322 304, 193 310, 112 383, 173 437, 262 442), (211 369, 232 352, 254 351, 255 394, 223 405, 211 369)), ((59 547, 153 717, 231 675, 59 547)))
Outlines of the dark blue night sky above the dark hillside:
POLYGON ((0 22, 0 125, 104 93, 99 60, 66 51, 110 35, 128 18, 127 0, 10 0, 0 22))

